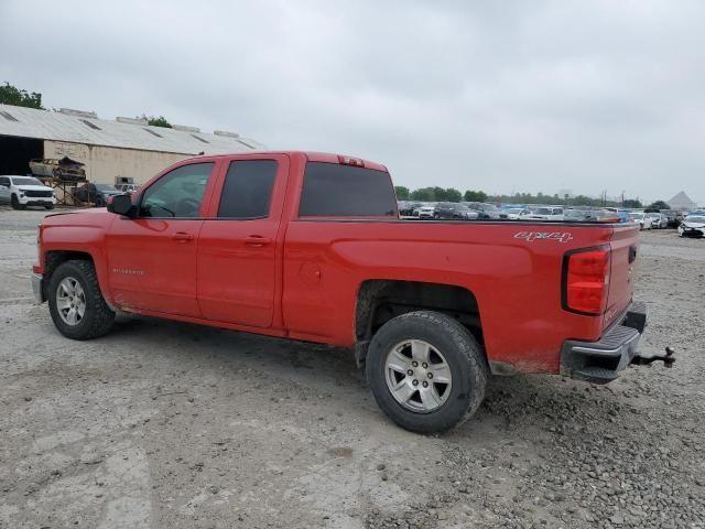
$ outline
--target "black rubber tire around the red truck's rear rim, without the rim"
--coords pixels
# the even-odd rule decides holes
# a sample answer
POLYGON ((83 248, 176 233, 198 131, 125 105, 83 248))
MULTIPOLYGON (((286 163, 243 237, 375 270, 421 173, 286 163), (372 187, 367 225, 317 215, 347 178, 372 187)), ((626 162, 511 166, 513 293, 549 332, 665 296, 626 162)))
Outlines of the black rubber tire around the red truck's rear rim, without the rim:
POLYGON ((470 418, 485 398, 488 368, 473 335, 449 316, 437 312, 410 312, 387 322, 372 337, 366 360, 367 380, 378 406, 392 421, 417 433, 440 433, 470 418), (422 339, 442 352, 453 384, 445 402, 429 412, 404 408, 388 388, 388 354, 406 339, 422 339))

